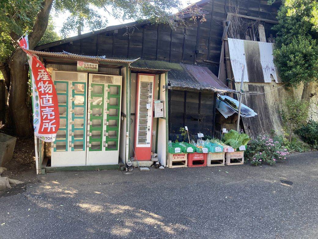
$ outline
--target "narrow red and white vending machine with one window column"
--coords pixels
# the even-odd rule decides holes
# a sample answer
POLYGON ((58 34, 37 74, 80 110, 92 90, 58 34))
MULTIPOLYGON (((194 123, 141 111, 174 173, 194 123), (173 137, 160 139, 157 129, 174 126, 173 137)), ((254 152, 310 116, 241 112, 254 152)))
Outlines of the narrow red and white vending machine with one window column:
POLYGON ((135 158, 151 160, 155 75, 138 74, 135 110, 135 158))

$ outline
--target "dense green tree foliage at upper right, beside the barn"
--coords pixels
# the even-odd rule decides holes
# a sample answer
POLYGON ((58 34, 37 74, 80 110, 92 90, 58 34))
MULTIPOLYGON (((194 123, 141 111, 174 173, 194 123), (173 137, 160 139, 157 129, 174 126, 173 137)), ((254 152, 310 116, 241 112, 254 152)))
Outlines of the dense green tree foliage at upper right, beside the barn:
POLYGON ((318 2, 285 0, 278 11, 274 62, 283 82, 297 87, 317 80, 318 2))

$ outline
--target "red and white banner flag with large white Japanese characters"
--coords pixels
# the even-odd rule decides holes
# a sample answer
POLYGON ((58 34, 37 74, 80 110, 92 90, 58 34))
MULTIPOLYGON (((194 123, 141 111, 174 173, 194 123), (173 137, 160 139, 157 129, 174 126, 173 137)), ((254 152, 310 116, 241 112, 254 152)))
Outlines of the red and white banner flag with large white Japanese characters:
POLYGON ((18 44, 27 54, 30 65, 34 134, 40 140, 53 142, 59 130, 59 104, 54 84, 37 56, 28 51, 27 39, 22 38, 18 44))

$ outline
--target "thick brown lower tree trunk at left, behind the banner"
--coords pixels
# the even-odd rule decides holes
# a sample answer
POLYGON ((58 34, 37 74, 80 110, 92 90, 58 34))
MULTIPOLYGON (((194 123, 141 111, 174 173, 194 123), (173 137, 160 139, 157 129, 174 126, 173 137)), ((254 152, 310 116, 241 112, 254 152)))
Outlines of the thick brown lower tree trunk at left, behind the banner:
POLYGON ((25 63, 26 54, 18 49, 9 63, 11 84, 9 90, 9 114, 15 132, 19 136, 30 135, 33 132, 30 122, 30 109, 25 103, 28 70, 25 63))

